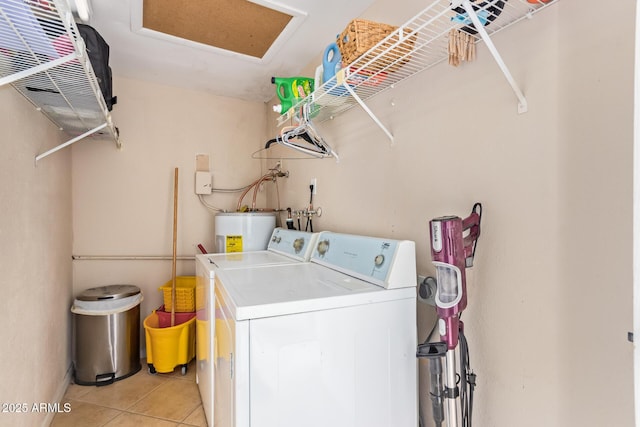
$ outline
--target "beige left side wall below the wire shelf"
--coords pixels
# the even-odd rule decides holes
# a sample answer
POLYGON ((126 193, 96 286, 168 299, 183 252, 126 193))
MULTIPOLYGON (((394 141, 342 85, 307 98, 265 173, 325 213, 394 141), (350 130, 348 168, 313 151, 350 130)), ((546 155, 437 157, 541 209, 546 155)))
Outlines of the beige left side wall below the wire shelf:
POLYGON ((0 87, 0 425, 46 425, 36 403, 62 397, 70 376, 71 156, 35 156, 64 135, 10 86, 0 87), (10 408, 6 408, 10 409, 10 408))

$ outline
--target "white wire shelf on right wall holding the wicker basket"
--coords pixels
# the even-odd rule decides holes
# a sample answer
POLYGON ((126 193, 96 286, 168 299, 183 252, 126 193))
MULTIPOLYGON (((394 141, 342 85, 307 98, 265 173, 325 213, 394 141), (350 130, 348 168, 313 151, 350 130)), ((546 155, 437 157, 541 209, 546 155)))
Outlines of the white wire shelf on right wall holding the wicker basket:
POLYGON ((315 91, 278 118, 278 126, 308 109, 314 121, 323 122, 359 105, 393 142, 393 135, 367 106, 366 101, 401 81, 449 58, 449 32, 460 30, 484 41, 518 101, 527 100, 496 49, 491 36, 559 0, 437 0, 393 33, 342 68, 315 91))

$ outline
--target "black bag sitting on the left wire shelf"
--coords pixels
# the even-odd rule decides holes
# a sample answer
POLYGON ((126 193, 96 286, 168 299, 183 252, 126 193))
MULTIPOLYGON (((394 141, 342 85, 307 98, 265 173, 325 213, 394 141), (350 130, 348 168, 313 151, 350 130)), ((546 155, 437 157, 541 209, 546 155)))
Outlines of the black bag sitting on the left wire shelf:
POLYGON ((91 67, 98 79, 102 96, 107 104, 107 109, 111 111, 113 105, 118 102, 118 97, 113 96, 111 67, 109 66, 109 45, 102 36, 89 25, 77 24, 80 35, 87 46, 87 53, 91 61, 91 67))

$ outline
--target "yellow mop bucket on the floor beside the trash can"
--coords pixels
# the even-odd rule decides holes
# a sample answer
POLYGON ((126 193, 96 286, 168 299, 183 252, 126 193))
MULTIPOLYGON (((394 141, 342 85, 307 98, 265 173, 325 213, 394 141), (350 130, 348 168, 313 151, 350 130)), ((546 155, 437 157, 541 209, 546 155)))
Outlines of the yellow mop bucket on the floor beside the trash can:
POLYGON ((165 328, 160 327, 158 314, 154 311, 144 319, 149 372, 173 372, 181 366, 182 375, 196 354, 196 318, 185 323, 165 328))

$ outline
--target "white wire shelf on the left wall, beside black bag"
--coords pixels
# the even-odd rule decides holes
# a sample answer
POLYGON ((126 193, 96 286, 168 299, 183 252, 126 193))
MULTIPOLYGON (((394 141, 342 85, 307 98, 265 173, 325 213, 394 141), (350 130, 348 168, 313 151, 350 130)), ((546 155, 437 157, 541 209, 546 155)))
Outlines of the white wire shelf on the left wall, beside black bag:
POLYGON ((0 0, 0 86, 11 84, 72 138, 111 138, 118 129, 102 96, 84 40, 64 0, 0 0))

